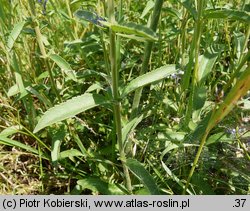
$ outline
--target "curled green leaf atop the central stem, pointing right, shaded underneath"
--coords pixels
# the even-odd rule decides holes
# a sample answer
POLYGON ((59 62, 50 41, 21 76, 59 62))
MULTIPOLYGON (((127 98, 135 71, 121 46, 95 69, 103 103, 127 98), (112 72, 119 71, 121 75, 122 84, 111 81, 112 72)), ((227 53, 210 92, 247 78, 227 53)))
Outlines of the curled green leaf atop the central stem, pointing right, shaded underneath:
POLYGON ((134 35, 141 38, 145 38, 146 40, 157 41, 157 36, 155 32, 152 29, 143 25, 139 25, 136 23, 111 24, 109 22, 103 21, 102 23, 114 32, 123 33, 125 35, 134 35))

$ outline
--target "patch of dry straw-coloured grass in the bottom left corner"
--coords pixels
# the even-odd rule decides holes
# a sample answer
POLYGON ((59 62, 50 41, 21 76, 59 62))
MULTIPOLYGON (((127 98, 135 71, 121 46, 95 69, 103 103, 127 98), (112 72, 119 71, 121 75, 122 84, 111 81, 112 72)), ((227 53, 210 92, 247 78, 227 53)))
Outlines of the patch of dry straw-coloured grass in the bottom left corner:
POLYGON ((12 148, 0 150, 0 194, 39 194, 39 159, 12 148))

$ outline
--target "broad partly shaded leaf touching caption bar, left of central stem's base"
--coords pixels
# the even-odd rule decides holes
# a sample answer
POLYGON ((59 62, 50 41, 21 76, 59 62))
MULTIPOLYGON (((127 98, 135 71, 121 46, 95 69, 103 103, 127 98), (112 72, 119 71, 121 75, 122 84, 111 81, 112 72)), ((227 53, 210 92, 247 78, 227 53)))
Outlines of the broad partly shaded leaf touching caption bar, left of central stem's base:
POLYGON ((97 177, 88 177, 77 181, 77 184, 81 186, 81 189, 89 189, 94 192, 99 192, 106 195, 122 195, 125 194, 113 183, 106 183, 97 177))

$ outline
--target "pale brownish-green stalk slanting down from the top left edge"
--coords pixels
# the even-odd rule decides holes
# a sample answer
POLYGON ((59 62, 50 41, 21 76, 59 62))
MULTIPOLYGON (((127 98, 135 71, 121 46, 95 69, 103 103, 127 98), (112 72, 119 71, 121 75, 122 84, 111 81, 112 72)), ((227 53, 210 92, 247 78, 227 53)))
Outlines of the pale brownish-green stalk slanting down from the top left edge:
POLYGON ((42 33, 40 31, 38 21, 36 21, 35 5, 34 5, 34 2, 32 0, 29 0, 29 6, 30 6, 32 21, 34 21, 34 23, 36 24, 35 25, 35 33, 36 33, 38 46, 39 46, 39 49, 41 51, 42 57, 44 59, 45 66, 46 66, 46 68, 47 68, 47 70, 49 72, 49 78, 50 78, 52 89, 53 89, 54 93, 56 94, 56 96, 58 98, 58 101, 62 102, 61 96, 60 96, 60 94, 59 94, 59 92, 57 90, 57 87, 56 87, 56 83, 55 83, 55 80, 54 80, 54 76, 53 76, 50 64, 49 64, 48 59, 47 59, 47 53, 46 53, 46 50, 45 50, 45 47, 44 47, 44 44, 43 44, 43 41, 42 41, 42 33))

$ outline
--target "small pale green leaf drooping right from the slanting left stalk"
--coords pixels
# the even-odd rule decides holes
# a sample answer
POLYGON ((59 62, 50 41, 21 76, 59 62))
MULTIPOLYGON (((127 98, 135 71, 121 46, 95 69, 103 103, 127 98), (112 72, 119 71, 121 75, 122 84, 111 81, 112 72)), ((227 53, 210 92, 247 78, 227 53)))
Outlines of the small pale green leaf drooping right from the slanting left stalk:
POLYGON ((49 58, 52 59, 70 79, 77 81, 75 71, 61 56, 57 54, 50 54, 49 58))

